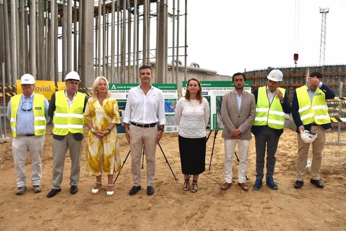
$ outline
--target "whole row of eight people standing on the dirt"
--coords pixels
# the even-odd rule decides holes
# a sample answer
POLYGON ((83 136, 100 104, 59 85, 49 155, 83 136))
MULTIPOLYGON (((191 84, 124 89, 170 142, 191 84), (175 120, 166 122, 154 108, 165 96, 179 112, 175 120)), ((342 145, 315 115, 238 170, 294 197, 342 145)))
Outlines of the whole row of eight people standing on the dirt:
MULTIPOLYGON (((129 90, 123 122, 126 139, 130 145, 133 187, 129 195, 141 190, 140 159, 144 148, 146 158, 147 195, 154 194, 155 148, 162 137, 165 124, 162 91, 151 85, 150 66, 139 68, 140 85, 129 90), (157 126, 158 125, 158 126, 157 126)), ((222 137, 225 144, 225 182, 221 189, 232 184, 232 162, 235 147, 239 149, 238 186, 248 191, 246 171, 251 132, 256 143, 256 181, 254 190, 262 187, 266 158, 266 185, 277 190, 273 174, 275 153, 280 135, 283 133, 285 113, 291 113, 297 125, 298 158, 295 188, 301 188, 305 176, 307 153, 310 144, 300 138, 300 133, 310 130, 317 133, 312 142, 312 164, 310 182, 319 188, 322 152, 325 132, 331 127, 326 99, 335 95, 321 82, 322 75, 312 72, 307 84, 293 92, 292 106, 287 92, 280 88, 283 75, 273 70, 267 76, 267 84, 255 89, 254 94, 244 90, 246 77, 235 73, 232 77, 235 89, 227 93, 222 102, 221 119, 224 123, 222 137)), ((57 91, 51 101, 34 93, 35 78, 30 74, 21 77, 23 94, 13 96, 8 104, 7 117, 13 133, 12 153, 17 174, 17 195, 27 190, 25 162, 28 152, 32 162, 32 184, 35 193, 41 192, 42 150, 46 124, 53 120, 53 173, 52 190, 47 197, 61 191, 63 170, 67 150, 71 158, 70 193, 78 192, 80 178, 80 155, 83 128, 89 128, 87 137, 87 172, 96 178, 91 190, 97 194, 102 189, 102 173, 107 175, 107 196, 114 194, 113 175, 120 171, 120 145, 116 124, 120 123, 117 101, 110 95, 108 81, 97 77, 92 85, 92 96, 78 92, 80 76, 77 72, 66 75, 66 89, 57 91)), ((202 94, 198 79, 191 78, 184 97, 176 105, 176 122, 179 125, 179 150, 184 191, 198 191, 198 178, 205 171, 206 127, 210 117, 209 102, 202 94), (190 177, 192 184, 190 184, 190 177)))

